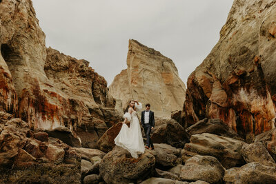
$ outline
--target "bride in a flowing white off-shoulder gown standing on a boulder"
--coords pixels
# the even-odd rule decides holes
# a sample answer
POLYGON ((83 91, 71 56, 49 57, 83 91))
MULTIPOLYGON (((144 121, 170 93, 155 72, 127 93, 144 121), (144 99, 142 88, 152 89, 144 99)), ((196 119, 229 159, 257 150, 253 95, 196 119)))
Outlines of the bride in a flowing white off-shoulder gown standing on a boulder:
POLYGON ((138 154, 145 152, 144 141, 136 112, 136 110, 141 110, 141 108, 142 105, 138 101, 130 101, 127 108, 128 112, 124 114, 125 120, 121 126, 121 130, 114 139, 116 145, 128 150, 135 159, 138 158, 138 154), (130 127, 126 125, 126 121, 130 121, 130 127))

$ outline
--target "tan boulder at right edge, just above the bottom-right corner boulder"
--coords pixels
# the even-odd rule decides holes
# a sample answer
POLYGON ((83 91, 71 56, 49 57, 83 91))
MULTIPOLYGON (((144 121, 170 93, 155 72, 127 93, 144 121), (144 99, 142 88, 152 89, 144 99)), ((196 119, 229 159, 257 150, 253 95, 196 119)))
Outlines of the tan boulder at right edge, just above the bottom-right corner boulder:
POLYGON ((266 150, 266 147, 261 142, 244 145, 242 147, 242 156, 246 163, 258 162, 262 165, 276 166, 272 156, 270 156, 268 150, 266 150))

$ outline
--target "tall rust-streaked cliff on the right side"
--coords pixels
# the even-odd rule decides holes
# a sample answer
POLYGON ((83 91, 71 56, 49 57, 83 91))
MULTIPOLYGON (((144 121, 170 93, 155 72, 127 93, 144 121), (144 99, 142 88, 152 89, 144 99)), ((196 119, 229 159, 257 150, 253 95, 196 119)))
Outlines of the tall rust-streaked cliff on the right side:
POLYGON ((275 7, 234 1, 219 42, 188 78, 186 123, 221 119, 248 142, 274 127, 275 7))

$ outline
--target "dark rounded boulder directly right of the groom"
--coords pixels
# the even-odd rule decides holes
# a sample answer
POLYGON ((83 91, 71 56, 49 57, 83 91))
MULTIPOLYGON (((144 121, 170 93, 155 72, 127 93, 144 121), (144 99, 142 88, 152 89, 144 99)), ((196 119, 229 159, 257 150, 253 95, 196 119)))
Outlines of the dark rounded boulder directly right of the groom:
POLYGON ((159 125, 151 136, 153 143, 166 143, 173 147, 183 148, 190 136, 177 121, 170 119, 159 125))

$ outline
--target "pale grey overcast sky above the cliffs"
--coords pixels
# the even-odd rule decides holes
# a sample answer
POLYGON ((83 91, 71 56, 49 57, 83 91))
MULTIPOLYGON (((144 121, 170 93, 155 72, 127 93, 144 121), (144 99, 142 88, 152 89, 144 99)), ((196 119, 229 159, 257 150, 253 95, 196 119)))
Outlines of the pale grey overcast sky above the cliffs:
POLYGON ((233 0, 32 0, 46 45, 104 76, 126 69, 128 39, 154 48, 188 76, 219 40, 233 0))

